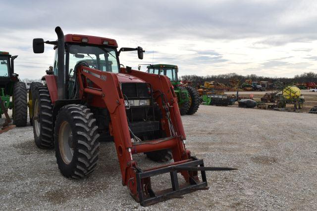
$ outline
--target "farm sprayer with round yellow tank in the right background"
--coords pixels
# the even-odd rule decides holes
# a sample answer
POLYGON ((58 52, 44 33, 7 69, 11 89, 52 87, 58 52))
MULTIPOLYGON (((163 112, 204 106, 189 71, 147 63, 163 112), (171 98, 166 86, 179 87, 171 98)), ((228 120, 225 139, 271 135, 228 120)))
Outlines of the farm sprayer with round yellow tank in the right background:
POLYGON ((277 91, 267 92, 261 98, 260 108, 285 108, 286 104, 294 104, 294 109, 301 109, 305 102, 301 90, 296 86, 280 86, 277 91))

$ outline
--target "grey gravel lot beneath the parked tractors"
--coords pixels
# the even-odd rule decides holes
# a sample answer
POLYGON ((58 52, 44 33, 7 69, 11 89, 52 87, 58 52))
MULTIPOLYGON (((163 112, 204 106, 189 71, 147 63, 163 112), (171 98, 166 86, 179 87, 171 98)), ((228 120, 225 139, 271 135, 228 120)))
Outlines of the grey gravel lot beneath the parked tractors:
MULTIPOLYGON (((316 210, 317 115, 201 106, 183 116, 187 148, 205 166, 210 189, 143 208, 121 185, 113 143, 102 143, 99 168, 71 180, 54 152, 35 147, 32 127, 0 134, 0 210, 316 210)), ((144 155, 142 167, 157 165, 144 155)), ((169 185, 165 175, 155 187, 169 185)))

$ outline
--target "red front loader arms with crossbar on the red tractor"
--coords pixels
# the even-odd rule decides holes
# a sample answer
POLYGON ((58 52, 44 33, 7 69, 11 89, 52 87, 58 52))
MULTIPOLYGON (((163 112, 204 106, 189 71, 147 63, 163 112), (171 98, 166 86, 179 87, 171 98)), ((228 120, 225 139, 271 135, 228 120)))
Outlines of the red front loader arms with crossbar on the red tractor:
MULTIPOLYGON (((79 66, 77 74, 80 85, 80 98, 85 100, 88 95, 93 95, 94 101, 102 101, 103 103, 98 103, 99 106, 107 108, 110 113, 111 125, 109 125, 109 128, 110 133, 114 137, 114 143, 122 174, 122 184, 127 185, 132 196, 139 201, 135 170, 137 168, 137 164, 133 160, 132 154, 171 148, 175 162, 188 160, 190 157, 190 152, 185 150, 185 145, 183 143, 183 139, 185 137, 184 129, 181 124, 177 100, 173 89, 171 88, 171 84, 168 82, 166 77, 162 76, 156 76, 147 80, 147 82, 155 84, 153 88, 156 92, 158 97, 157 101, 161 108, 163 107, 164 98, 162 98, 163 96, 160 96, 159 93, 166 95, 165 98, 169 104, 167 109, 170 112, 170 119, 176 130, 176 136, 170 137, 165 141, 151 140, 150 142, 144 142, 142 144, 132 144, 124 99, 117 75, 85 66, 79 66), (88 79, 94 83, 94 87, 88 86, 88 79)), ((163 109, 163 111, 165 110, 163 109)), ((166 116, 166 113, 164 113, 164 115, 166 116)), ((165 118, 161 122, 167 133, 172 134, 172 132, 169 131, 169 127, 167 127, 168 120, 165 118)), ((189 181, 188 171, 182 171, 182 174, 186 181, 189 181)), ((147 182, 146 179, 144 182, 147 182)))

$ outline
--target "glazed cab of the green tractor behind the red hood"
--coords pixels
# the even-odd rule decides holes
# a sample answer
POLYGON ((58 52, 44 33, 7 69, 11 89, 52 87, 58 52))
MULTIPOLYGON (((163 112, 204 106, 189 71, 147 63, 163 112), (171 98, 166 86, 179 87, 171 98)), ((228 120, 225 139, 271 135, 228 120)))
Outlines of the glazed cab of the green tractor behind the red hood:
POLYGON ((155 64, 155 65, 148 65, 147 73, 164 75, 169 78, 173 85, 180 84, 178 81, 177 73, 178 67, 177 65, 169 65, 169 64, 155 64))

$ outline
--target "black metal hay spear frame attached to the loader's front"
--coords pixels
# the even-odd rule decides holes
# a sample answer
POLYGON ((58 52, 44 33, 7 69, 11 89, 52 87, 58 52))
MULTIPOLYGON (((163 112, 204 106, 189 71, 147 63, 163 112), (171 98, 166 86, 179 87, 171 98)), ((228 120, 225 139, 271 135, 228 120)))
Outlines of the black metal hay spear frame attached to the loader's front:
POLYGON ((179 161, 164 165, 154 169, 141 170, 138 169, 136 173, 137 191, 139 196, 139 202, 141 206, 149 206, 161 201, 165 201, 173 198, 183 198, 182 195, 190 193, 196 190, 207 190, 207 178, 206 170, 235 170, 233 168, 220 168, 220 167, 204 167, 204 161, 191 157, 186 161, 179 161), (189 177, 189 181, 185 184, 179 184, 177 173, 180 171, 196 172, 189 175, 197 175, 189 177), (199 181, 197 172, 201 171, 201 179, 199 181), (151 187, 151 176, 159 174, 170 173, 171 188, 154 192, 151 187))

